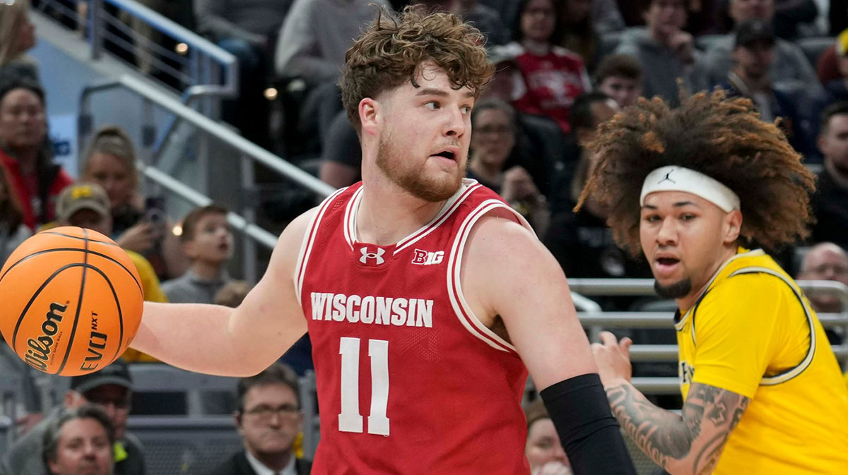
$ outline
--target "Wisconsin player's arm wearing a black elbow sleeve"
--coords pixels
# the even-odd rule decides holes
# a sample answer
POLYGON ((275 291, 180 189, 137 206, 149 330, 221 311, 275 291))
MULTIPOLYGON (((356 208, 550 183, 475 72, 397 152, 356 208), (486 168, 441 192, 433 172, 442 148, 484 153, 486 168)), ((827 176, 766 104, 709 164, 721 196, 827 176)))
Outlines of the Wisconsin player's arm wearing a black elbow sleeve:
POLYGON ((490 215, 475 225, 463 259, 469 306, 478 318, 503 320, 574 473, 635 474, 566 277, 550 252, 521 225, 490 215))

